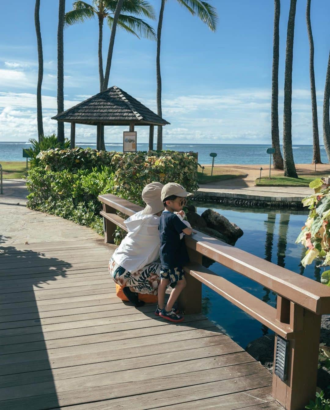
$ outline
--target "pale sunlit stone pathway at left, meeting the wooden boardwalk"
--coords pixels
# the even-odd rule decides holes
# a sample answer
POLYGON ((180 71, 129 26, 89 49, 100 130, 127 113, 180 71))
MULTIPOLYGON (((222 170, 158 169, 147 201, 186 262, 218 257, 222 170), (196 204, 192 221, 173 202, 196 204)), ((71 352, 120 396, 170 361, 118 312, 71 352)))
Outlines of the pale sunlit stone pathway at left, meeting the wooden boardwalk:
POLYGON ((27 194, 25 180, 3 181, 3 194, 0 195, 0 244, 100 239, 100 235, 90 228, 59 216, 28 209, 25 206, 27 194))

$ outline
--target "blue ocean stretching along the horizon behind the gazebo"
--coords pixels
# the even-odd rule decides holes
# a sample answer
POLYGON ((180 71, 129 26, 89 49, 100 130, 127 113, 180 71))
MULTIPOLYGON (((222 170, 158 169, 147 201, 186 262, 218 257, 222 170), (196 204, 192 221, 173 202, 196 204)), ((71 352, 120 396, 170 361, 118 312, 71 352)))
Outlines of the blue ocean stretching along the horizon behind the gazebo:
MULTIPOLYGON (((82 148, 96 148, 93 143, 77 142, 76 145, 82 148)), ((25 161, 22 148, 28 148, 29 146, 30 143, 28 142, 0 142, 0 162, 25 161)), ((122 143, 109 143, 105 146, 108 151, 122 151, 123 149, 122 143)), ((164 150, 197 152, 200 164, 212 164, 210 153, 217 154, 214 164, 268 164, 269 154, 266 154, 266 149, 269 147, 270 145, 264 144, 163 144, 164 150)), ((296 164, 312 163, 312 145, 294 145, 292 148, 296 164)), ((146 151, 148 150, 148 144, 137 144, 137 149, 146 151)), ((323 163, 328 163, 323 146, 321 146, 321 160, 323 163)))

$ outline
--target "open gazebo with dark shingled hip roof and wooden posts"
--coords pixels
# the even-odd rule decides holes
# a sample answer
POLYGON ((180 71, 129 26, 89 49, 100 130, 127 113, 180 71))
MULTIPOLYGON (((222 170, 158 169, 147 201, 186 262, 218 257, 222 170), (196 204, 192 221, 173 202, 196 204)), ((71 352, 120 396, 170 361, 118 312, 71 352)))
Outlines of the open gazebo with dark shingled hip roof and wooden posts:
POLYGON ((96 125, 96 149, 101 149, 102 125, 149 125, 149 149, 153 149, 154 126, 169 124, 138 100, 113 86, 52 117, 71 123, 71 148, 75 147, 75 124, 96 125))

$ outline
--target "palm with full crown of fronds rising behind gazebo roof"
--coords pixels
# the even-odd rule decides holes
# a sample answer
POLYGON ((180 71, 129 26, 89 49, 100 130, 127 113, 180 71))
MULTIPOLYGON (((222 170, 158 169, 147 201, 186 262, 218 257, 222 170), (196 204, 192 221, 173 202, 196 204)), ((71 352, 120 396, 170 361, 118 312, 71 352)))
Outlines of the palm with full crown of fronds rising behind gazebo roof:
MULTIPOLYGON (((93 0, 91 5, 84 1, 76 0, 72 5, 73 10, 68 11, 65 15, 65 23, 67 25, 84 22, 90 18, 98 18, 98 73, 100 79, 100 91, 107 89, 107 85, 105 88, 103 87, 105 85, 102 59, 103 22, 106 19, 109 27, 112 29, 117 5, 117 0, 93 0)), ((134 36, 137 36, 138 38, 141 36, 146 39, 155 40, 156 34, 154 29, 146 23, 146 21, 142 20, 140 16, 155 20, 153 7, 146 0, 124 0, 116 24, 118 24, 119 28, 134 34, 134 36)), ((113 49, 113 43, 111 49, 113 49)), ((111 58, 112 54, 110 61, 111 58)), ((101 128, 101 149, 105 150, 104 127, 101 128)))

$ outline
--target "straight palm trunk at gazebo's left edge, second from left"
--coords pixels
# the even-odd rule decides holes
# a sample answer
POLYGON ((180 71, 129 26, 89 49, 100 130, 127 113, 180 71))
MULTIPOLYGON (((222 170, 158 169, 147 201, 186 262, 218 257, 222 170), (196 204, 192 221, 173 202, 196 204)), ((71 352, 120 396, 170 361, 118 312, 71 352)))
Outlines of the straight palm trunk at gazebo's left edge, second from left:
MULTIPOLYGON (((64 111, 64 31, 65 0, 59 0, 59 24, 57 28, 57 114, 64 111)), ((64 123, 57 121, 57 141, 64 143, 64 123)))

